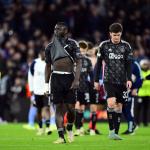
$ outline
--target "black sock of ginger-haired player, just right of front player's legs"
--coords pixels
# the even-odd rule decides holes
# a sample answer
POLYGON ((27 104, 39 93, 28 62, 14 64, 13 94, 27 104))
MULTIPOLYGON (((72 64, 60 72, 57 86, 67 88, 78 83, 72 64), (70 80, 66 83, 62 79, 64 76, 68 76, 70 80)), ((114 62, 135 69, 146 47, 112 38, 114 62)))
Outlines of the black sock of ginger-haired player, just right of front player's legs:
POLYGON ((76 111, 75 127, 80 129, 83 126, 83 112, 76 111))

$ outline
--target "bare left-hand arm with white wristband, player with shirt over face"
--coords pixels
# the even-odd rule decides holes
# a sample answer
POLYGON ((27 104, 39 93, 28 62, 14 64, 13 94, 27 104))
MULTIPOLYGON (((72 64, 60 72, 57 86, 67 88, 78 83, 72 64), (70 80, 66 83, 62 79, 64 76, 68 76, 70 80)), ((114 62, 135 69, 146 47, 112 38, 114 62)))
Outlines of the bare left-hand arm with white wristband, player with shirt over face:
POLYGON ((45 92, 49 93, 49 79, 51 75, 51 57, 50 57, 50 48, 45 49, 45 92))

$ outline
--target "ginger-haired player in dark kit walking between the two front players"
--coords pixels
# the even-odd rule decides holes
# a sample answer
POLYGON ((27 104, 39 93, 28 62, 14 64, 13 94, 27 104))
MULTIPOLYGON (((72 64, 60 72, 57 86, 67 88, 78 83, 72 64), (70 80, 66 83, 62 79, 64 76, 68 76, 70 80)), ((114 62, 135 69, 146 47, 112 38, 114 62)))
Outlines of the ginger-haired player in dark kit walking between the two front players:
POLYGON ((82 54, 82 69, 80 74, 80 83, 79 89, 77 92, 77 102, 75 105, 76 110, 76 119, 75 119, 75 127, 76 131, 74 133, 75 136, 83 136, 84 128, 84 110, 85 106, 90 102, 89 90, 91 84, 94 85, 94 76, 93 76, 93 68, 91 60, 86 56, 88 44, 86 41, 79 41, 80 51, 82 54), (90 80, 88 80, 88 77, 90 80))

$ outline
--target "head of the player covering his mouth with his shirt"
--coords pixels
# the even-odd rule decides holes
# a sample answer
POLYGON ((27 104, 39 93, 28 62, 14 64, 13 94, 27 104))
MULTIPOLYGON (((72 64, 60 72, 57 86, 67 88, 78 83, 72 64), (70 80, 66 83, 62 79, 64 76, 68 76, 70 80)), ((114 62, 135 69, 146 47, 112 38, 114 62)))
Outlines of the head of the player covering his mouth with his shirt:
POLYGON ((68 29, 63 25, 56 25, 54 29, 54 33, 58 37, 64 37, 68 33, 68 29))

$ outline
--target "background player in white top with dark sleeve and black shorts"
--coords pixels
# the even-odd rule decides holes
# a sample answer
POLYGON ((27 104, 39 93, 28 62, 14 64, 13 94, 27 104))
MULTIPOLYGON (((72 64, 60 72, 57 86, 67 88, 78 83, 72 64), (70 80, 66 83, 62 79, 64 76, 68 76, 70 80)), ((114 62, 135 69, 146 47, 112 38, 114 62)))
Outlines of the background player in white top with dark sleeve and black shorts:
POLYGON ((37 107, 38 132, 37 135, 44 133, 51 134, 50 131, 50 109, 49 100, 45 94, 45 49, 41 49, 39 57, 35 59, 29 68, 29 89, 31 92, 32 102, 37 107), (46 129, 43 127, 45 120, 46 129))

